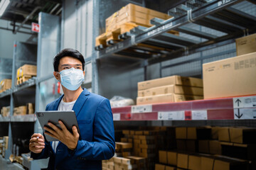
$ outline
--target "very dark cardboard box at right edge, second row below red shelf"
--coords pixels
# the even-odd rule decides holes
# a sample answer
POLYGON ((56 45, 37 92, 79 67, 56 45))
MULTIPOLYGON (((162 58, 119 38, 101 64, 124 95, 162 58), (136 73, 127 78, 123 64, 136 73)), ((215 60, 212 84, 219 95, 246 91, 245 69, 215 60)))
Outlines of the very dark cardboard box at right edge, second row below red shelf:
POLYGON ((220 142, 222 154, 246 160, 256 160, 255 144, 236 144, 230 142, 220 142))

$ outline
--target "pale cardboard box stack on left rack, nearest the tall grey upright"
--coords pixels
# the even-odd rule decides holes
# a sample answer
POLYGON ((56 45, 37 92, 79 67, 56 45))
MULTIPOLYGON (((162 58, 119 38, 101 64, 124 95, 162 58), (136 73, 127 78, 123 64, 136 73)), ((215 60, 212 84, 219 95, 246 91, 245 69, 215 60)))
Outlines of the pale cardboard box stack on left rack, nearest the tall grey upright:
POLYGON ((36 66, 31 64, 24 64, 17 69, 16 79, 17 84, 22 84, 23 82, 36 77, 36 66))

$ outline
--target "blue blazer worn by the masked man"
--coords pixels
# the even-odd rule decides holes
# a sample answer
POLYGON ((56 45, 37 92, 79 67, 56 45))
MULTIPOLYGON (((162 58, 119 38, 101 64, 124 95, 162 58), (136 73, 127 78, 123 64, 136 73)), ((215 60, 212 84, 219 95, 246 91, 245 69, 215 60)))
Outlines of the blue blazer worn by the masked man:
MULTIPOLYGON (((57 111, 63 96, 49 103, 46 111, 57 111)), ((78 126, 80 140, 74 151, 59 142, 56 153, 51 142, 46 141, 46 147, 40 154, 31 152, 33 159, 50 157, 48 169, 102 169, 102 159, 110 159, 114 155, 114 124, 107 98, 91 94, 84 89, 73 106, 78 126)))

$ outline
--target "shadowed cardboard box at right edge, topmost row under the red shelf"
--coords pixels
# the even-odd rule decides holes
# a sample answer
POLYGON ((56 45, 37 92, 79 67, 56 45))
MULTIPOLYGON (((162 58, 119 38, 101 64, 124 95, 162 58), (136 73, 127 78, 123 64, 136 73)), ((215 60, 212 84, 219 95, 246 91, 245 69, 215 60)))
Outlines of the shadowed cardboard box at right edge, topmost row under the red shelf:
POLYGON ((230 142, 256 144, 255 128, 230 128, 230 142))

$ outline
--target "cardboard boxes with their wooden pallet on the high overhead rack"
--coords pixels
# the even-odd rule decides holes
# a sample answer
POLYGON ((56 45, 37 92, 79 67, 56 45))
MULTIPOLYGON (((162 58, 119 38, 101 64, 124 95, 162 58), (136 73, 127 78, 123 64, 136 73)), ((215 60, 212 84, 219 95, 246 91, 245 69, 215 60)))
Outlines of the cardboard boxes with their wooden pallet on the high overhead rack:
MULTIPOLYGON (((124 6, 106 19, 105 33, 96 38, 95 46, 107 46, 106 42, 108 40, 117 41, 119 40, 118 35, 126 33, 137 26, 151 27, 153 26, 150 23, 152 18, 161 18, 166 20, 171 17, 172 16, 169 16, 166 13, 161 13, 159 11, 154 11, 134 4, 127 4, 127 6, 124 6)), ((171 30, 169 33, 178 35, 178 32, 175 30, 171 30)))

